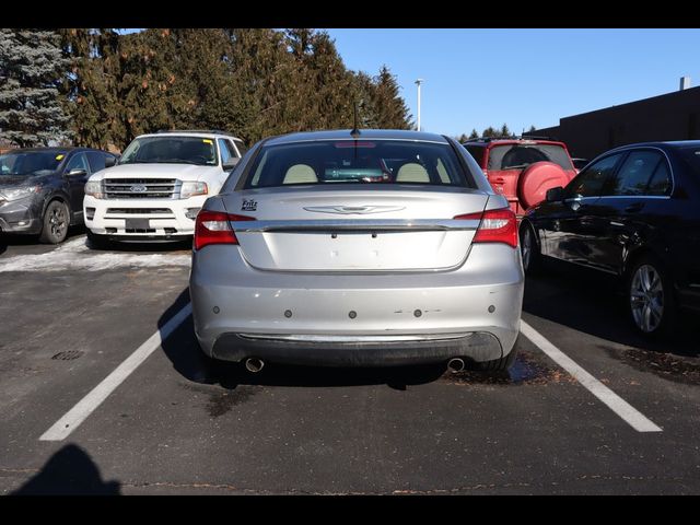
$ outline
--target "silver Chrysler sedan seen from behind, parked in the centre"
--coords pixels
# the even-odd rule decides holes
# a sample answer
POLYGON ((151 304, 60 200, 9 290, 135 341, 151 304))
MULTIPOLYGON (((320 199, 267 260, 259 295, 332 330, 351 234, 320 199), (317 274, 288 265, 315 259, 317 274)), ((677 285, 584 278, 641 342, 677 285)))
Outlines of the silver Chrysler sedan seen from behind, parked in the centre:
POLYGON ((509 368, 516 218, 451 138, 394 130, 258 142, 197 217, 190 296, 209 357, 509 368))

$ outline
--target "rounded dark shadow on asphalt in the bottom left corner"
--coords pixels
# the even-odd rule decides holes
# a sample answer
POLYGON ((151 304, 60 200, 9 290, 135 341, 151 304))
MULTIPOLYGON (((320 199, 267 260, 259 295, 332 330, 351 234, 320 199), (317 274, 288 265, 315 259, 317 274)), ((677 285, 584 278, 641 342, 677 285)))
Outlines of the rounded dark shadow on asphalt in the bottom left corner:
POLYGON ((12 495, 120 495, 118 481, 103 481, 97 465, 77 445, 66 445, 12 495))

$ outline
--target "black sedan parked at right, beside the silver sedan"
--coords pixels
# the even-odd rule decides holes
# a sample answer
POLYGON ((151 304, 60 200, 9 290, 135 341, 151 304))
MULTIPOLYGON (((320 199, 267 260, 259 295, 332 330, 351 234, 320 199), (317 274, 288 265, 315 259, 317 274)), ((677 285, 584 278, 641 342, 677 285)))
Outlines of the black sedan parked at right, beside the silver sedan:
POLYGON ((608 151, 528 210, 526 272, 541 256, 615 275, 634 326, 667 332, 679 307, 700 311, 700 141, 608 151))

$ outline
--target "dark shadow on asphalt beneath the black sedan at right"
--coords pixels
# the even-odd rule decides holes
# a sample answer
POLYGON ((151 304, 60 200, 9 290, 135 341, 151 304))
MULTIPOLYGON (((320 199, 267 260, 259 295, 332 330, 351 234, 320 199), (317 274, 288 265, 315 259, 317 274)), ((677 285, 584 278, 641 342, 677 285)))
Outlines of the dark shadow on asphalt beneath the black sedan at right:
POLYGON ((526 279, 523 312, 628 347, 700 355, 700 331, 689 316, 673 337, 645 338, 628 318, 616 279, 558 261, 548 260, 540 275, 526 279))

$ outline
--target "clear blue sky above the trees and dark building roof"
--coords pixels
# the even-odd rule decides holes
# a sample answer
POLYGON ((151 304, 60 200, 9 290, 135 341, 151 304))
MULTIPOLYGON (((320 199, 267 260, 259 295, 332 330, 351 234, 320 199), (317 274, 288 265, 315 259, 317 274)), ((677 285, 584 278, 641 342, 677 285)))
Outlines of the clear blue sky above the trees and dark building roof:
POLYGON ((347 68, 386 65, 421 128, 459 136, 578 115, 700 85, 700 30, 327 28, 347 68))

